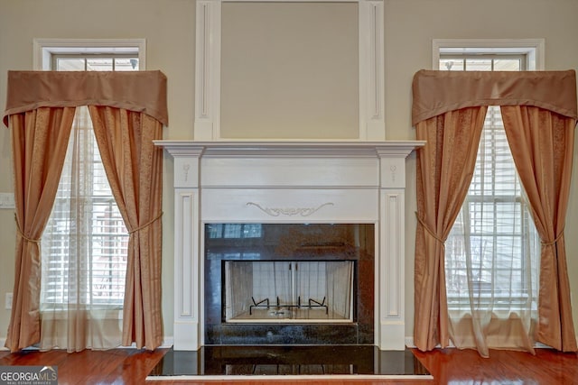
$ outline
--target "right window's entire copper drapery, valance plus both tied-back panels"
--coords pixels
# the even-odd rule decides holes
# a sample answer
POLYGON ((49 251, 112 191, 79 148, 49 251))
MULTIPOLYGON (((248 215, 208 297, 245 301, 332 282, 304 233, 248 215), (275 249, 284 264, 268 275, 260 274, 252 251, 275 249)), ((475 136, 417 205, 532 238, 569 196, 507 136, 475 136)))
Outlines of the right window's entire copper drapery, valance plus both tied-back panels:
MULTIPOLYGON (((444 243, 471 180, 471 162, 485 115, 477 115, 476 109, 500 105, 508 142, 542 242, 536 341, 575 352, 564 249, 564 218, 578 118, 575 72, 422 70, 415 74, 413 90, 416 137, 427 141, 417 151, 415 345, 424 351, 438 344, 445 347, 452 337, 444 243)), ((512 328, 503 328, 500 333, 506 341, 512 328)), ((532 351, 524 338, 519 335, 515 344, 532 351)), ((488 347, 505 346, 488 346, 481 341, 485 339, 483 335, 473 339, 484 356, 488 347)))

